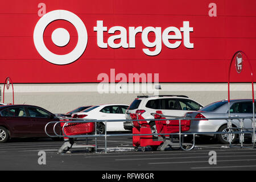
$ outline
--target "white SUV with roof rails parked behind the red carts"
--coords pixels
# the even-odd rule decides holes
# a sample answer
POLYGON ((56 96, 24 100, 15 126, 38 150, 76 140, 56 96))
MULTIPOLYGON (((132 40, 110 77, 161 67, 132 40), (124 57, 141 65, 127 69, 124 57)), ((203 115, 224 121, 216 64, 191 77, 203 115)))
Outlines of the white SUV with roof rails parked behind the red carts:
MULTIPOLYGON (((161 110, 164 115, 183 117, 188 111, 199 110, 203 105, 191 100, 187 96, 178 95, 160 95, 160 96, 138 96, 131 103, 125 112, 126 119, 131 119, 130 114, 140 113, 144 119, 154 119, 151 113, 161 110)), ((156 127, 154 121, 148 121, 152 133, 155 133, 156 127)), ((131 122, 124 122, 123 127, 126 130, 132 130, 131 122)))

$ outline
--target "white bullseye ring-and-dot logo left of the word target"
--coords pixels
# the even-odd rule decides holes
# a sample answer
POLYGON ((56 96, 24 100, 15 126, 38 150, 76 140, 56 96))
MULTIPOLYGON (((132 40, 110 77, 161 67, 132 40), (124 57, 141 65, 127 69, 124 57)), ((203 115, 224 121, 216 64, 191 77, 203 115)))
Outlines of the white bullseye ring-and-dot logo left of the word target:
MULTIPOLYGON (((69 42, 69 33, 64 28, 57 28, 55 31, 53 31, 53 33, 55 34, 52 35, 52 40, 56 46, 65 46, 69 42), (56 32, 59 32, 60 34, 56 34, 56 32), (62 37, 61 39, 61 35, 65 37, 62 37)), ((79 18, 79 16, 67 10, 54 10, 42 16, 42 18, 38 20, 38 23, 36 23, 33 38, 36 50, 39 52, 39 54, 50 63, 59 65, 69 64, 79 59, 82 53, 84 53, 88 41, 86 27, 82 20, 79 18), (73 51, 65 55, 56 55, 55 53, 52 53, 44 44, 44 30, 49 23, 55 20, 67 20, 68 22, 72 23, 77 30, 77 45, 73 51)))

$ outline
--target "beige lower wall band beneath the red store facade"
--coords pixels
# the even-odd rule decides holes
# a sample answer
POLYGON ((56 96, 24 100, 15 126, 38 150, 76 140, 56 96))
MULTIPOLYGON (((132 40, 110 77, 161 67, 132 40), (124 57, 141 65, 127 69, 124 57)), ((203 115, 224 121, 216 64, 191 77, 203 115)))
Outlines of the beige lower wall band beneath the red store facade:
MULTIPOLYGON (((202 105, 228 98, 227 84, 159 84, 159 94, 181 94, 202 105)), ((3 96, 3 85, 1 86, 3 96)), ((98 93, 98 84, 14 84, 15 104, 41 106, 52 113, 67 113, 82 105, 127 104, 142 93, 98 93)), ((250 84, 232 84, 231 98, 251 98, 250 84)), ((3 98, 2 98, 3 101, 3 98)), ((11 89, 5 103, 12 102, 11 89)))

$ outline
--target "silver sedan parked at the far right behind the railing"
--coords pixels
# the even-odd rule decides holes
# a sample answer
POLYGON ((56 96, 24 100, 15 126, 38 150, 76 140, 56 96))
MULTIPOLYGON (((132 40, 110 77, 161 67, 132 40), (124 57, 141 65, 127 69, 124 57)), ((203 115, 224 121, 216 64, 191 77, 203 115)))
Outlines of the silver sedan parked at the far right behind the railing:
MULTIPOLYGON (((228 118, 228 101, 222 100, 213 102, 202 109, 185 114, 186 118, 228 118)), ((230 117, 253 117, 252 100, 230 100, 230 117)), ((233 127, 239 127, 238 119, 232 119, 233 127)), ((252 127, 251 119, 245 119, 244 127, 252 127)), ((232 129, 231 129, 232 130, 232 129)), ((233 129, 234 131, 235 129, 233 129)), ((212 120, 191 120, 190 132, 216 132, 229 131, 226 119, 212 120)), ((223 144, 228 144, 227 134, 208 134, 210 137, 216 137, 223 144)), ((236 142, 238 134, 232 134, 232 143, 236 142)), ((251 137, 251 135, 245 135, 251 137)))

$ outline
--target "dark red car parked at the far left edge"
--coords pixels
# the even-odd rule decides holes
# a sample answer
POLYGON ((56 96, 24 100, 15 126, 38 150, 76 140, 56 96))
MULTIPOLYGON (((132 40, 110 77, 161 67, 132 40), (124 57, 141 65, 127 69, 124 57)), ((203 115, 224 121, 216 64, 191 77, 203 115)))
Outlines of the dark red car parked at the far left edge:
MULTIPOLYGON (((5 143, 10 138, 47 137, 44 127, 51 121, 60 121, 60 119, 42 107, 32 105, 1 106, 0 143, 5 143)), ((53 133, 53 130, 49 133, 53 133)))

